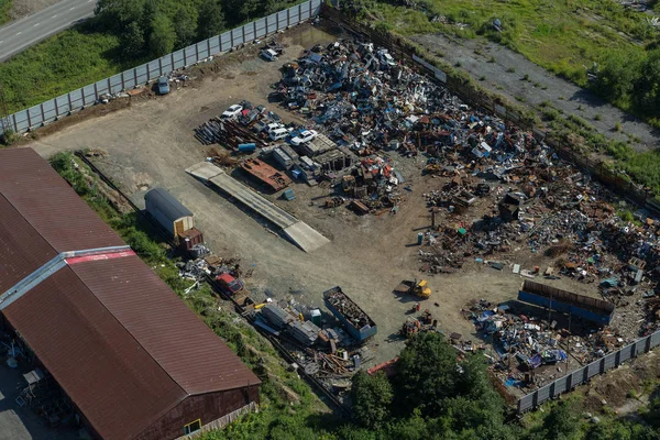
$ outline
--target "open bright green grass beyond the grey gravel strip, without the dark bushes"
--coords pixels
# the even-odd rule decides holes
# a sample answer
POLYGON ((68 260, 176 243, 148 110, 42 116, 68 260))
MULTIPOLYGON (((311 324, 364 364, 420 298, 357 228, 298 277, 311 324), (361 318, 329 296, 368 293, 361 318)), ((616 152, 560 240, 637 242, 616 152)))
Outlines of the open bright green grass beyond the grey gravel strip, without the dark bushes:
POLYGON ((426 0, 417 9, 370 0, 362 4, 404 35, 483 35, 580 85, 586 82, 583 66, 591 67, 613 50, 644 52, 657 35, 648 15, 613 0, 426 0), (435 16, 440 21, 431 22, 435 16), (503 32, 493 29, 495 19, 503 32))

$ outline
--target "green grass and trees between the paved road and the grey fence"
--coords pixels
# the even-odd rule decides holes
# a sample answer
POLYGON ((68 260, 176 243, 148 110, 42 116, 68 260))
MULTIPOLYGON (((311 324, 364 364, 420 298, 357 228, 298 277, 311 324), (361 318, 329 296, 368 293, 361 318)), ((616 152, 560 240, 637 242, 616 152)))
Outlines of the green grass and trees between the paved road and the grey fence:
POLYGON ((101 0, 95 19, 0 64, 8 109, 35 106, 296 2, 101 0))

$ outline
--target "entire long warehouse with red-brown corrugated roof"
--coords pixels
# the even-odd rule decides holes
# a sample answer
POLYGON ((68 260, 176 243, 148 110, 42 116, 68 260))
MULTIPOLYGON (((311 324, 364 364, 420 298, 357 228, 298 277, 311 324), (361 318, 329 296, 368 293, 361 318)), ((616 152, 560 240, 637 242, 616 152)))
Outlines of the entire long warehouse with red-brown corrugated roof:
POLYGON ((258 378, 31 148, 0 151, 0 333, 94 438, 177 439, 258 403, 258 378))

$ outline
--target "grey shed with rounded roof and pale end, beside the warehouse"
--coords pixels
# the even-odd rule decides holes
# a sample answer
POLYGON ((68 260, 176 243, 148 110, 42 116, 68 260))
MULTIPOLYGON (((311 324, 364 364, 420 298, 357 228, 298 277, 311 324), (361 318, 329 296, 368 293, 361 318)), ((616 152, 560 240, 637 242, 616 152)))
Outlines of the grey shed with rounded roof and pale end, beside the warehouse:
POLYGON ((146 212, 173 235, 179 235, 195 228, 193 212, 164 188, 151 189, 144 195, 144 201, 146 202, 146 212))

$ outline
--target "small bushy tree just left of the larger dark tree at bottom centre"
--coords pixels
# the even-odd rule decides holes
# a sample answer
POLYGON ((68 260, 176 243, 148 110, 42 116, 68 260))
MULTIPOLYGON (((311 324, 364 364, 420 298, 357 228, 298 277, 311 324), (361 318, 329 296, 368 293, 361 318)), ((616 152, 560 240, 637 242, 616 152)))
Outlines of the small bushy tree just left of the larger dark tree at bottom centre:
POLYGON ((373 376, 360 372, 353 376, 351 388, 353 414, 366 428, 380 429, 389 416, 394 396, 392 385, 383 372, 373 376))

